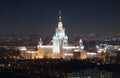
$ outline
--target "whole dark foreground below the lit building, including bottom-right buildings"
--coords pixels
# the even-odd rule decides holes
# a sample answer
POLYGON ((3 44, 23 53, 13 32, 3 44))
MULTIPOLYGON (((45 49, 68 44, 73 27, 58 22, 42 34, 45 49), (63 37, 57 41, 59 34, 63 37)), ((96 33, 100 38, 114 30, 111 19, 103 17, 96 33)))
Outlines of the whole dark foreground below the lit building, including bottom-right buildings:
POLYGON ((120 78, 120 65, 102 61, 36 59, 0 60, 2 78, 120 78))

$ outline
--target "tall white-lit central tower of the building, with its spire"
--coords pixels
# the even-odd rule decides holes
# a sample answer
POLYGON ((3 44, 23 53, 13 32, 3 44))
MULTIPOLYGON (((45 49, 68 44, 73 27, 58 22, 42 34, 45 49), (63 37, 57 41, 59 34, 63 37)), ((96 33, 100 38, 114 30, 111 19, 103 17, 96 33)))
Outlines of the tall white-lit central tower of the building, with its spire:
POLYGON ((58 26, 53 36, 53 54, 61 54, 63 46, 67 46, 68 37, 65 35, 65 28, 63 28, 61 11, 59 12, 58 26))

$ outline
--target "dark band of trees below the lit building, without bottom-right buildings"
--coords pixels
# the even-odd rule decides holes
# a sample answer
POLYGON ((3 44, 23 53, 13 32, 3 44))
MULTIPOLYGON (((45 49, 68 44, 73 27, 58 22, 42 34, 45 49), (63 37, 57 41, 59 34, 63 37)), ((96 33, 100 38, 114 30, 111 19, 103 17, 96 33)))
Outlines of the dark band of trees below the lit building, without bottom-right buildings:
MULTIPOLYGON (((119 73, 119 64, 103 64, 97 65, 87 60, 63 60, 63 59, 35 59, 35 60, 15 60, 5 59, 0 60, 0 64, 4 64, 1 67, 1 73, 7 73, 12 76, 17 75, 20 77, 67 77, 67 73, 79 72, 85 69, 105 70, 108 72, 119 73), (64 74, 63 74, 64 73, 64 74)), ((1 74, 4 75, 4 74, 1 74)))

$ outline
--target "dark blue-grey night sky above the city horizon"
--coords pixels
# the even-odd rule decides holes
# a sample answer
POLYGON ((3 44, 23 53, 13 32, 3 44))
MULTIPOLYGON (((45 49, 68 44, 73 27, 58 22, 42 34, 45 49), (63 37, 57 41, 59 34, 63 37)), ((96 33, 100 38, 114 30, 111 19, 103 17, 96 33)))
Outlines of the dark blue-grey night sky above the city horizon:
POLYGON ((0 0, 0 34, 120 32, 119 0, 0 0))

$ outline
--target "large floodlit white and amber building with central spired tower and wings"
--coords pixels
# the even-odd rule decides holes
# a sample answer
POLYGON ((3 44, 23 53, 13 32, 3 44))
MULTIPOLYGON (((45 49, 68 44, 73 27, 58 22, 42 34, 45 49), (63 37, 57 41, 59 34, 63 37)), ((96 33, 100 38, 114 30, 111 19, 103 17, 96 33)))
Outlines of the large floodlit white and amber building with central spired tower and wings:
POLYGON ((65 28, 63 28, 61 12, 59 13, 58 26, 56 28, 55 35, 53 36, 52 45, 43 45, 42 39, 40 39, 37 46, 38 50, 35 52, 27 51, 27 48, 20 47, 23 57, 31 56, 31 58, 73 58, 74 50, 82 52, 84 50, 83 42, 80 39, 78 46, 69 46, 68 37, 65 34, 65 28), (27 54, 26 54, 27 53, 27 54))

